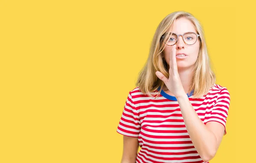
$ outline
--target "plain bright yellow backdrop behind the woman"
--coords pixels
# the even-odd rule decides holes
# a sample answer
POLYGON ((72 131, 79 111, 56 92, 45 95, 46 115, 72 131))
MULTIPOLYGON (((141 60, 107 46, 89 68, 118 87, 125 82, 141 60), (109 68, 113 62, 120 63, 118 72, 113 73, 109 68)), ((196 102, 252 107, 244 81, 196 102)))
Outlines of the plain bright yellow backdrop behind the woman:
POLYGON ((173 11, 201 22, 227 135, 211 163, 256 162, 255 24, 245 1, 0 1, 0 163, 119 163, 116 132, 154 32, 173 11))

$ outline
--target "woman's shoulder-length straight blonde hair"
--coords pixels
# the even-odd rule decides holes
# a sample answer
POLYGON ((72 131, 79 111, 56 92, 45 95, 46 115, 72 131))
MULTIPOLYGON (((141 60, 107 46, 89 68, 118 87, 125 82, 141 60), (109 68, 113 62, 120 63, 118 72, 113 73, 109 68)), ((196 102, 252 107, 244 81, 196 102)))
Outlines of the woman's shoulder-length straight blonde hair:
POLYGON ((166 44, 163 43, 163 40, 161 40, 161 36, 164 34, 169 35, 170 31, 172 31, 173 23, 180 17, 185 17, 190 20, 195 25, 195 29, 198 34, 200 34, 198 37, 200 41, 198 59, 196 60, 193 69, 194 74, 192 77, 192 83, 189 87, 189 92, 194 90, 193 98, 198 98, 207 94, 215 84, 216 77, 210 68, 204 31, 199 21, 188 12, 176 11, 167 15, 158 25, 151 43, 148 60, 140 71, 136 82, 136 86, 139 87, 140 91, 143 92, 143 94, 148 94, 150 97, 152 97, 150 92, 155 92, 160 87, 160 91, 157 95, 159 96, 164 86, 164 82, 155 74, 156 71, 162 72, 167 78, 169 78, 167 63, 161 56, 162 51, 166 46, 166 44))

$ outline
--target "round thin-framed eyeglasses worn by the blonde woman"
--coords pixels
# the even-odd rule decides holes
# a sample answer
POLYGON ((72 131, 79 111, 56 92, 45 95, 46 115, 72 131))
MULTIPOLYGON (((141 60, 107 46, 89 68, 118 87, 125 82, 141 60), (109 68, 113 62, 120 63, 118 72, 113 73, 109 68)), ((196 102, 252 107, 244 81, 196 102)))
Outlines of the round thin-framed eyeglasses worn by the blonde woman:
MULTIPOLYGON (((196 43, 197 38, 200 36, 200 34, 195 34, 194 32, 186 32, 184 34, 178 34, 178 35, 175 33, 170 33, 169 34, 170 39, 166 41, 167 43, 166 42, 164 43, 168 46, 173 46, 175 43, 178 42, 179 36, 182 36, 184 43, 186 43, 187 45, 193 45, 196 43)), ((161 39, 164 40, 165 37, 166 37, 166 34, 163 34, 163 36, 161 36, 161 39)))

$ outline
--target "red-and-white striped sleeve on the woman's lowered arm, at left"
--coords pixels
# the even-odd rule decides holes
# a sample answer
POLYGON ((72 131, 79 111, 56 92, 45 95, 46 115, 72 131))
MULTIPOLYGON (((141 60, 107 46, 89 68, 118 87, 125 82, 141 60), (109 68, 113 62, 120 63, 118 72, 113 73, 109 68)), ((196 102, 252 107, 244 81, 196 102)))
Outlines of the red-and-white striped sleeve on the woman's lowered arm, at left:
POLYGON ((139 137, 140 117, 129 92, 116 132, 125 136, 139 137))

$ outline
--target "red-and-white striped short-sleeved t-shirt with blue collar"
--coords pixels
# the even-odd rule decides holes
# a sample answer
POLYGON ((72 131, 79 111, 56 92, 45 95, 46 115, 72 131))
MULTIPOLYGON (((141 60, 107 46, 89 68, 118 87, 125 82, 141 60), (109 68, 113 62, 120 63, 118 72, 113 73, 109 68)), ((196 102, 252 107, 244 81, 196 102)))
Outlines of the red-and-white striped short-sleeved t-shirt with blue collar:
MULTIPOLYGON (((156 92, 151 92, 155 94, 156 92)), ((117 132, 138 137, 140 151, 136 163, 206 163, 199 156, 183 121, 176 97, 166 94, 149 97, 139 87, 129 92, 117 132)), ((214 84, 208 94, 189 100, 202 122, 221 123, 225 127, 230 106, 226 87, 214 84)))

